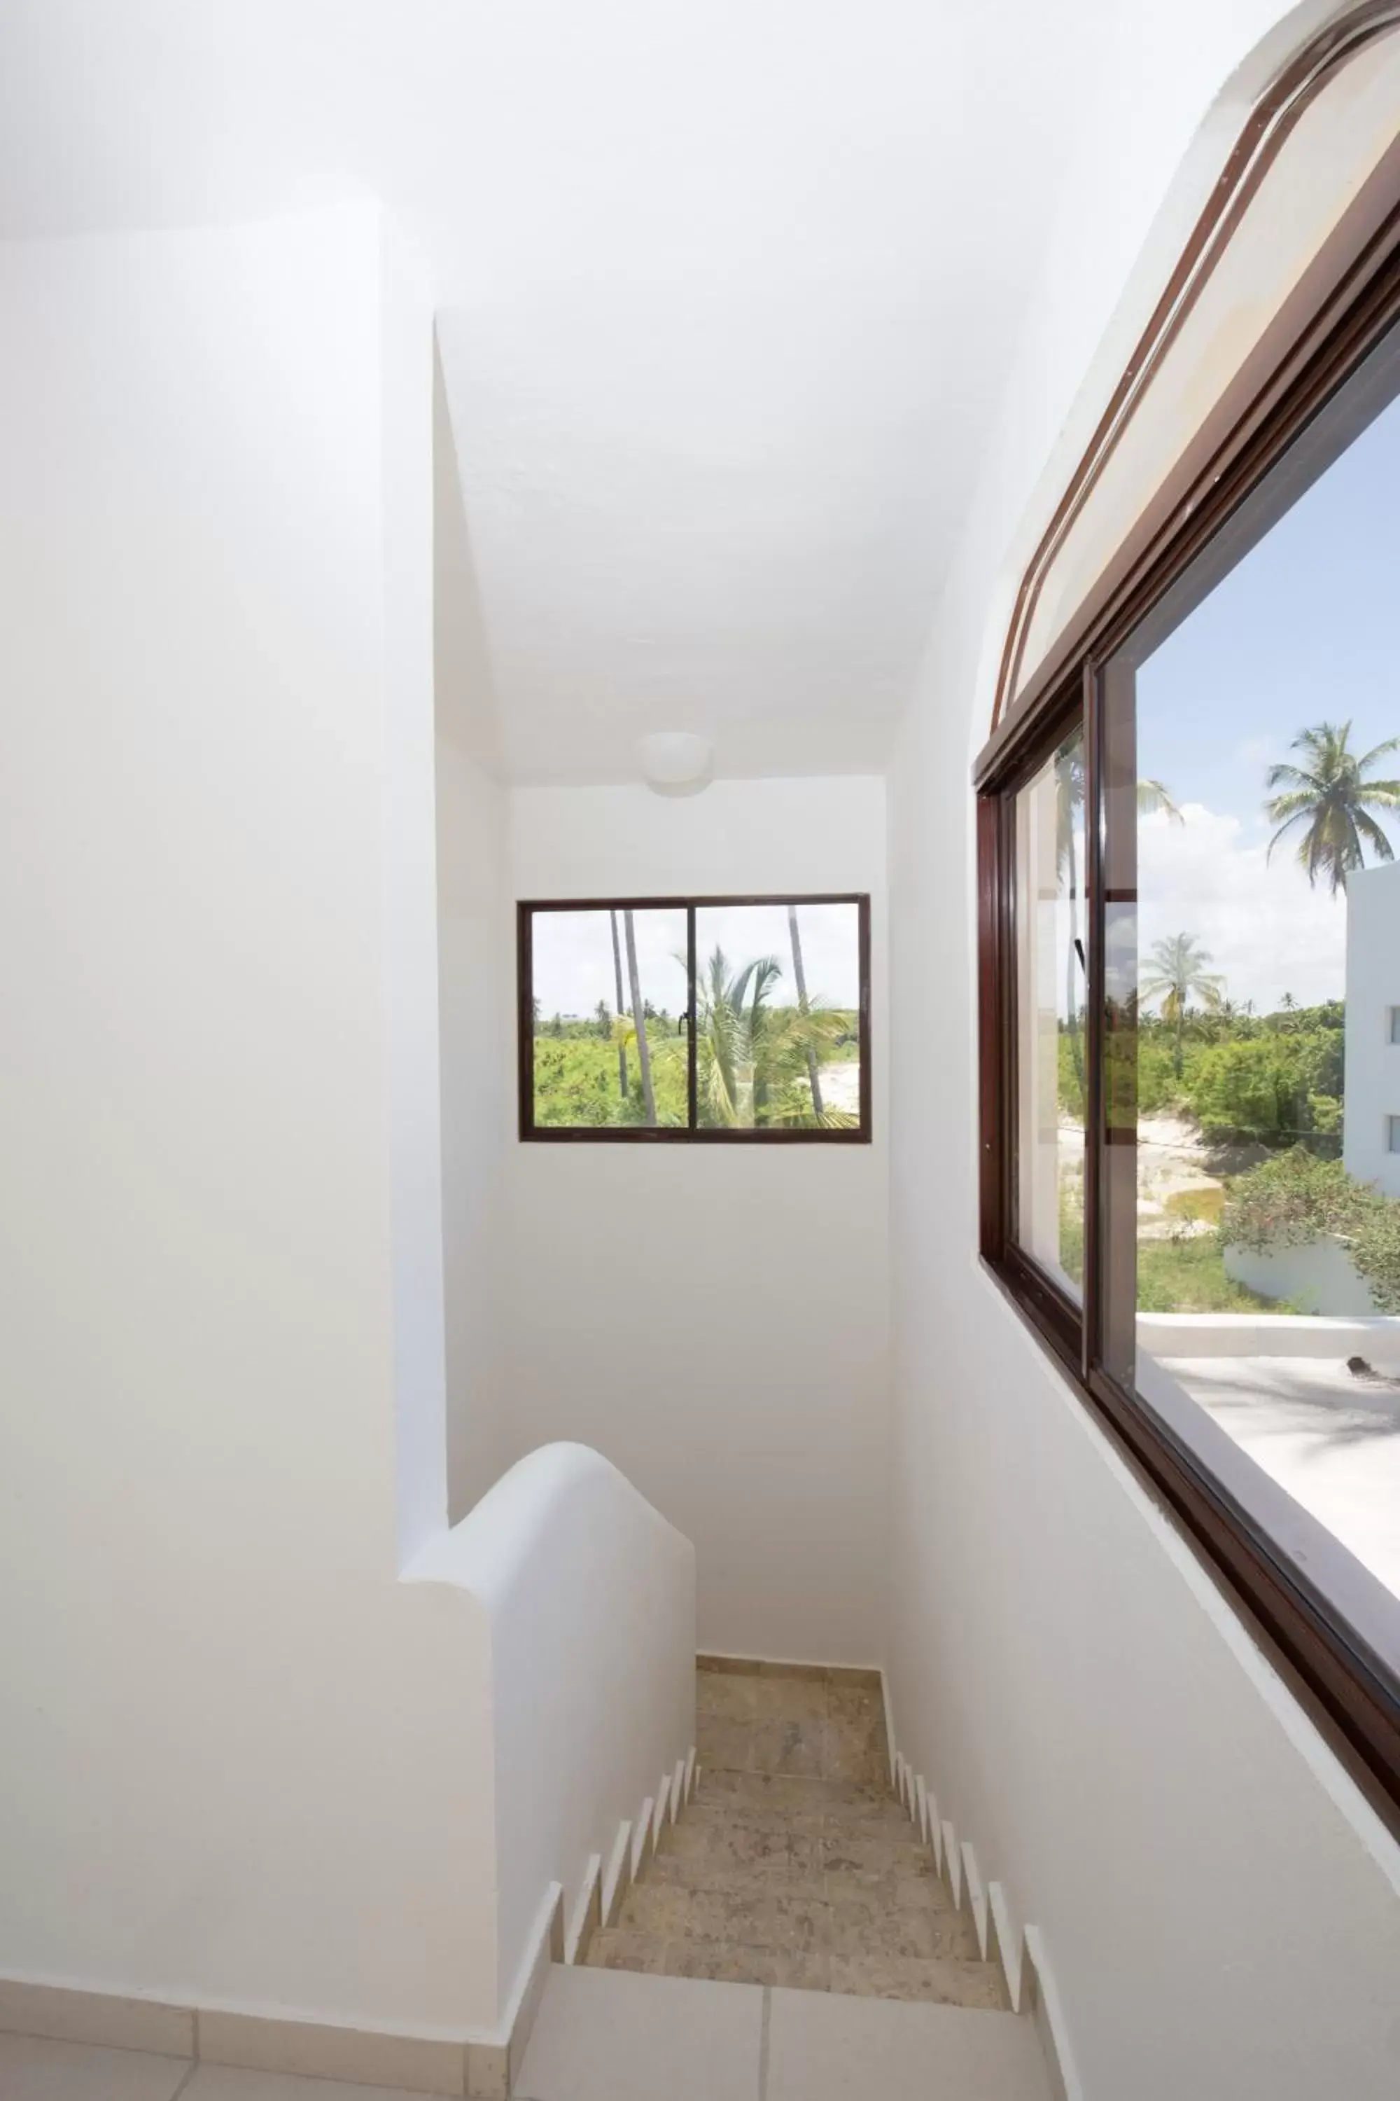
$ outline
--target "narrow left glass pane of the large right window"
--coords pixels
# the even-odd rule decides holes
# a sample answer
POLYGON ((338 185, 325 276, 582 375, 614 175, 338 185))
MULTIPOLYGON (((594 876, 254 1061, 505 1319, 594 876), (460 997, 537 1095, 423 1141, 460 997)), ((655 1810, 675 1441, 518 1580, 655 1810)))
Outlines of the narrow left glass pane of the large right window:
POLYGON ((1016 796, 1016 1237, 1083 1288, 1085 752, 1075 729, 1016 796))

